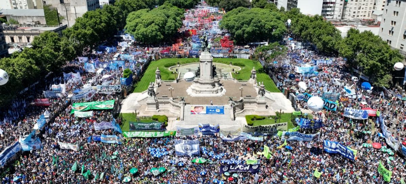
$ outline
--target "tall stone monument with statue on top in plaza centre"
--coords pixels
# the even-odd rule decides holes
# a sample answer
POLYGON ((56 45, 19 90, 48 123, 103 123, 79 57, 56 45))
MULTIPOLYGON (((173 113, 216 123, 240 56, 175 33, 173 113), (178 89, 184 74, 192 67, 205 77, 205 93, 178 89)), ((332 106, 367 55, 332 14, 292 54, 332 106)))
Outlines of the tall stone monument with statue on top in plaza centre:
POLYGON ((216 76, 216 66, 213 65, 213 57, 208 50, 209 47, 207 35, 204 35, 199 57, 199 69, 196 71, 196 78, 192 85, 186 90, 190 96, 215 97, 222 96, 226 92, 220 84, 220 79, 216 76))

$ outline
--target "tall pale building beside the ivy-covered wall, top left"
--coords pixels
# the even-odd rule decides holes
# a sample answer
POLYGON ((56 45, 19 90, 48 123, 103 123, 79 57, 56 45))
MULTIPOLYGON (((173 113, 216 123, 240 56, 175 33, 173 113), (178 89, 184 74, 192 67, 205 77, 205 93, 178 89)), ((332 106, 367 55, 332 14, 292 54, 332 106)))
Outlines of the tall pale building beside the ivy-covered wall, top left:
POLYGON ((76 18, 82 17, 87 11, 100 8, 99 0, 43 0, 43 5, 50 4, 60 15, 65 17, 62 23, 71 27, 76 18))

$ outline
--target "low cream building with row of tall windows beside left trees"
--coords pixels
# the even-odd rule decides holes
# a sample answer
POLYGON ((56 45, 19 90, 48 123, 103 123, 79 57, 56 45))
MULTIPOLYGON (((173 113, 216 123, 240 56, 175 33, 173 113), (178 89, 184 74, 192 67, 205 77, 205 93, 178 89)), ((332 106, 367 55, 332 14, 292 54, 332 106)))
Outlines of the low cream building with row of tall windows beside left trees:
MULTIPOLYGON (((0 26, 1 27, 1 26, 0 26)), ((58 33, 62 36, 62 31, 65 30, 67 25, 60 27, 49 27, 46 25, 41 25, 41 27, 33 25, 24 26, 4 26, 2 27, 6 43, 8 44, 27 44, 32 42, 35 36, 46 32, 52 31, 58 33)))

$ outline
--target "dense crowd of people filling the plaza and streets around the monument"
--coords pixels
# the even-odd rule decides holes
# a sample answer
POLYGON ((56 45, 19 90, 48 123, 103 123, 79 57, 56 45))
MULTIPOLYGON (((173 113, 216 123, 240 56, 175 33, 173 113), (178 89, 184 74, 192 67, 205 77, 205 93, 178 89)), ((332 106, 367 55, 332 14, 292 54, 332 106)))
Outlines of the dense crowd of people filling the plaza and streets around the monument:
MULTIPOLYGON (((203 7, 202 7, 203 8, 203 7)), ((182 28, 186 30, 186 28, 182 28)), ((289 35, 287 35, 287 38, 289 35)), ((185 39, 187 40, 187 39, 185 39)), ((190 42, 190 40, 189 40, 190 42)), ((218 135, 200 135, 186 137, 123 137, 113 129, 95 130, 94 123, 110 122, 113 119, 112 110, 93 110, 93 116, 80 118, 72 114, 72 103, 80 102, 103 102, 118 100, 115 93, 96 93, 89 99, 72 101, 69 93, 76 89, 82 89, 85 85, 102 85, 103 75, 111 75, 110 85, 120 85, 123 77, 122 68, 118 70, 106 70, 103 75, 95 72, 85 72, 84 63, 71 62, 65 68, 66 72, 81 71, 81 80, 65 81, 67 93, 62 93, 58 98, 48 98, 50 106, 39 107, 35 103, 16 100, 13 111, 4 113, 4 120, 0 120, 0 150, 13 145, 20 137, 30 133, 41 114, 50 112, 46 125, 37 135, 41 137, 43 148, 22 151, 16 154, 14 159, 9 159, 0 170, 2 184, 73 184, 73 183, 123 183, 125 178, 130 177, 134 184, 382 184, 386 183, 378 173, 378 163, 382 161, 385 168, 391 170, 392 184, 404 184, 406 175, 404 155, 395 151, 389 155, 380 149, 364 147, 364 143, 377 142, 382 146, 389 146, 385 139, 378 137, 382 132, 380 125, 371 121, 354 120, 343 116, 345 107, 358 109, 370 107, 378 109, 384 117, 385 125, 391 127, 394 136, 402 142, 406 130, 406 116, 404 115, 405 102, 395 94, 394 89, 374 93, 361 89, 360 82, 352 78, 346 62, 340 57, 326 57, 304 48, 292 48, 291 42, 286 41, 289 53, 284 61, 271 66, 270 71, 278 79, 281 89, 292 90, 296 94, 303 93, 298 82, 307 84, 306 93, 313 96, 321 96, 323 92, 332 91, 340 93, 340 102, 337 111, 313 112, 311 116, 323 120, 320 129, 300 129, 300 133, 320 132, 319 141, 300 142, 290 141, 287 143, 292 149, 287 149, 284 142, 277 135, 263 135, 260 140, 237 140, 234 142, 223 141, 218 135), (294 54, 292 54, 294 53, 294 54), (313 60, 331 59, 332 63, 319 63, 318 75, 301 75, 294 72, 294 66, 313 66, 313 60), (68 71, 69 70, 69 71, 68 71), (295 74, 295 79, 290 79, 289 74, 295 74), (339 79, 355 91, 354 95, 348 95, 343 91, 343 86, 335 82, 339 79), (354 98, 353 98, 354 97, 354 98), (363 102, 363 103, 361 103, 363 102), (19 110, 17 110, 19 109, 19 110), (370 133, 363 133, 370 131, 370 133), (117 135, 121 144, 102 143, 92 138, 99 135, 117 135), (199 140, 200 156, 180 157, 175 153, 174 140, 199 140), (352 161, 339 154, 329 154, 324 151, 323 140, 341 142, 355 150, 358 150, 357 159, 352 161), (77 150, 62 149, 58 142, 78 145, 77 150), (264 146, 268 146, 271 152, 270 158, 261 155, 264 146), (153 157, 149 149, 159 148, 168 152, 161 157, 153 157), (203 150, 224 155, 221 159, 214 158, 203 150), (227 165, 222 160, 260 159, 259 172, 242 172, 234 175, 220 174, 220 166, 227 165), (389 159, 389 157, 393 159, 389 159), (196 158, 208 159, 205 163, 192 163, 196 158), (183 164, 180 164, 183 163, 183 164), (151 169, 165 167, 167 171, 158 174, 151 169), (134 172, 133 168, 138 169, 134 172), (322 172, 321 176, 315 177, 315 170, 322 172), (204 173, 204 174, 202 174, 204 173), (218 181, 216 181, 218 180, 218 181)), ((185 46, 190 44, 185 43, 185 46)), ((163 47, 162 47, 163 48, 163 47)), ((161 50, 162 50, 161 48, 161 50)), ((237 48, 237 47, 236 47, 237 48)), ((143 65, 140 59, 150 56, 149 47, 130 45, 125 51, 117 47, 117 53, 131 55, 141 51, 133 61, 143 65)), ((239 47, 237 49, 243 49, 239 47)), ((254 48, 249 49, 252 53, 254 48)), ((99 59, 100 62, 111 61, 115 53, 92 53, 86 57, 99 59)), ((118 60, 121 60, 120 58, 118 60)), ((125 63, 131 62, 130 60, 125 63)), ((46 84, 64 83, 58 77, 46 80, 46 84)), ((46 85, 45 85, 46 86, 46 85)), ((37 89, 41 91, 42 89, 37 89)), ((35 98, 43 99, 44 95, 33 93, 35 98)), ((299 109, 307 109, 307 103, 296 101, 299 109)), ((117 105, 117 104, 116 104, 117 105)), ((300 116, 299 116, 300 117, 300 116)), ((370 117, 376 122, 376 117, 370 117)), ((119 120, 117 120, 119 122, 119 120)), ((221 128, 221 127, 220 127, 221 128)), ((231 137, 231 136, 229 136, 231 137)))

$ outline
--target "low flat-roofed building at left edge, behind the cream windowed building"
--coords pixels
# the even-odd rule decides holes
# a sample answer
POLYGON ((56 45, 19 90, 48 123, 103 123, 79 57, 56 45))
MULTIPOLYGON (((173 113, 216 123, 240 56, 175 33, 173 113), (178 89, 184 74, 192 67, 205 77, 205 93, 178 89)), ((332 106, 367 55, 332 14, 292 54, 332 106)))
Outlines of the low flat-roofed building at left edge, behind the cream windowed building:
POLYGON ((1 9, 0 17, 7 21, 14 19, 19 24, 46 24, 44 10, 37 9, 1 9))

